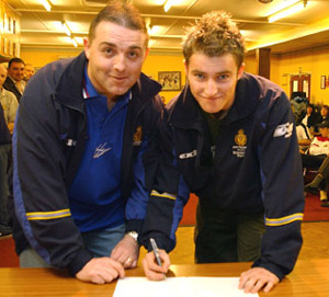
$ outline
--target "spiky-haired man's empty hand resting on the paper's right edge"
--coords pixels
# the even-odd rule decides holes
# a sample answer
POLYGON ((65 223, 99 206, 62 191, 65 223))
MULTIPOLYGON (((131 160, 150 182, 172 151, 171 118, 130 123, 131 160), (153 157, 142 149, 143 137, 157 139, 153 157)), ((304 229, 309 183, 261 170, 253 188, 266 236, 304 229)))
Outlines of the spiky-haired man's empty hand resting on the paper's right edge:
POLYGON ((245 293, 258 293, 264 287, 263 290, 268 293, 279 281, 279 277, 272 272, 262 267, 253 267, 241 273, 239 288, 245 289, 245 293))

